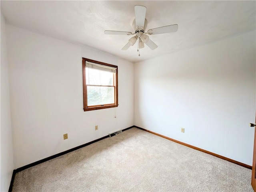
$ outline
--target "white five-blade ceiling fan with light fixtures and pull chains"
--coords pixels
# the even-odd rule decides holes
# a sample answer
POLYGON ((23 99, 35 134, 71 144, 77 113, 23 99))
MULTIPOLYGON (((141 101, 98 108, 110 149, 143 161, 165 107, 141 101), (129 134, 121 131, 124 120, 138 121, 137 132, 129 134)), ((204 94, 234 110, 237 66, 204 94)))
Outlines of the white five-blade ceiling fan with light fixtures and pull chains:
POLYGON ((172 33, 178 30, 178 25, 168 25, 158 28, 149 29, 148 32, 145 32, 147 28, 147 20, 146 20, 146 7, 141 5, 134 6, 135 10, 135 19, 132 22, 132 28, 134 29, 134 33, 132 32, 124 32, 124 31, 104 31, 107 35, 134 35, 132 38, 128 40, 128 43, 122 48, 122 50, 127 50, 130 46, 133 46, 138 40, 138 49, 140 56, 140 49, 144 48, 144 43, 150 49, 156 49, 158 46, 150 40, 148 35, 156 35, 156 34, 164 34, 164 33, 172 33), (146 35, 148 34, 148 35, 146 35))

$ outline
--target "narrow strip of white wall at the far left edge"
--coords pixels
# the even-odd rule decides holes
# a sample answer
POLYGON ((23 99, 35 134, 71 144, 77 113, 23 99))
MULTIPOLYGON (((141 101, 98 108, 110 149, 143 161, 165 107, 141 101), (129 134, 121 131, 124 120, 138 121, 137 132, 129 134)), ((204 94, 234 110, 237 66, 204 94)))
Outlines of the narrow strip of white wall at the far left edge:
POLYGON ((1 13, 1 102, 0 102, 0 145, 1 145, 1 166, 0 166, 0 191, 8 191, 12 172, 14 170, 13 164, 13 150, 12 150, 12 125, 10 113, 10 95, 9 95, 9 77, 8 77, 8 60, 6 49, 6 25, 5 19, 1 13))

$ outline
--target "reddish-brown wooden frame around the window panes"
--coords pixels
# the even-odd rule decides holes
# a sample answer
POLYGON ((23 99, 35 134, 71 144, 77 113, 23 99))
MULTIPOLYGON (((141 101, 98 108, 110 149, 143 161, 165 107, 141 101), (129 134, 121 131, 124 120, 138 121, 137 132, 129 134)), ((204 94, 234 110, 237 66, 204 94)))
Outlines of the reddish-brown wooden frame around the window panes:
MULTIPOLYGON (((82 57, 82 65, 83 65, 82 70, 83 70, 84 111, 92 111, 92 110, 98 110, 98 109, 118 107, 118 66, 111 65, 111 64, 108 64, 108 63, 103 63, 103 62, 100 62, 100 61, 95 61, 95 60, 92 60, 92 59, 86 59, 84 57, 82 57), (85 63, 86 63, 86 61, 116 68, 116 74, 113 74, 114 75, 114 80, 115 80, 115 86, 114 86, 114 94, 115 94, 114 95, 115 96, 114 100, 115 100, 115 102, 113 104, 94 105, 94 106, 88 107, 88 105, 87 105, 87 86, 90 86, 90 85, 86 85, 86 72, 85 72, 85 70, 86 70, 85 63)), ((104 87, 106 87, 106 86, 104 86, 104 87)), ((110 86, 110 87, 112 87, 112 86, 110 86)))

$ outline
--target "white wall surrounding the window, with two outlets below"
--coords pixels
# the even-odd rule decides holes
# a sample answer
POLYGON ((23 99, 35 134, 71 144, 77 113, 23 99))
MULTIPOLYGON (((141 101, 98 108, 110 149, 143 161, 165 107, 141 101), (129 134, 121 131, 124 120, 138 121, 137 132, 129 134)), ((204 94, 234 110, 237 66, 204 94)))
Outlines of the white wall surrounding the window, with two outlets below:
POLYGON ((15 168, 134 125, 134 63, 6 27, 15 168), (82 57, 118 65, 117 108, 83 111, 82 57))

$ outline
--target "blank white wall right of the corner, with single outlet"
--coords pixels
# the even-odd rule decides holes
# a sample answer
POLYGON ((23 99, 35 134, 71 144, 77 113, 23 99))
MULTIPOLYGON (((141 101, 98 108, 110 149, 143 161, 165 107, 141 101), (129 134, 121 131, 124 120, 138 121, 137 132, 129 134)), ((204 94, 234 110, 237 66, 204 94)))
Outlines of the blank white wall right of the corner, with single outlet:
POLYGON ((134 125, 252 165, 255 47, 254 31, 135 63, 134 125))

